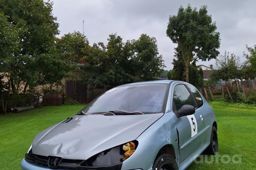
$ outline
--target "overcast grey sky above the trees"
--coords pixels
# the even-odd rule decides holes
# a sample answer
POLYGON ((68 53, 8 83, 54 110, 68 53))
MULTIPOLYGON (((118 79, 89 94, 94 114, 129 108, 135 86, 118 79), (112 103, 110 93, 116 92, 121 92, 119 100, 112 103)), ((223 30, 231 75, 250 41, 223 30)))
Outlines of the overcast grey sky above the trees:
MULTIPOLYGON (((256 44, 256 1, 251 0, 53 0, 53 14, 60 24, 60 35, 74 30, 87 36, 90 44, 107 42, 111 33, 123 41, 137 39, 146 33, 157 38, 159 53, 166 69, 172 69, 174 47, 166 36, 170 15, 176 15, 179 6, 188 3, 197 9, 208 6, 208 13, 220 32, 220 54, 225 50, 239 55, 246 51, 245 44, 256 44)), ((198 61, 197 64, 215 64, 198 61)))

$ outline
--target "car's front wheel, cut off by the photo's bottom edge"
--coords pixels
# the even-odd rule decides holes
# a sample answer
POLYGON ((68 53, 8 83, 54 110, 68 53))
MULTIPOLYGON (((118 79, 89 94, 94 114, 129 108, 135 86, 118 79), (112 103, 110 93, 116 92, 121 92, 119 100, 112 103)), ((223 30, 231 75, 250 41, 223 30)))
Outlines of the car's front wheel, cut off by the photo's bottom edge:
POLYGON ((152 170, 178 170, 178 166, 172 155, 161 154, 155 160, 152 170))

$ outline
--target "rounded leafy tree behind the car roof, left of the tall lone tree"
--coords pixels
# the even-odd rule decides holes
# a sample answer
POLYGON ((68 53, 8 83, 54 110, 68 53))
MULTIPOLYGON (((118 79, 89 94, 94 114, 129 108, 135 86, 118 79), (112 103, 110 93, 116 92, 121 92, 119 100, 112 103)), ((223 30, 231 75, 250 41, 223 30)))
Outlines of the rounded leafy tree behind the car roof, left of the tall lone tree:
POLYGON ((140 35, 138 40, 133 40, 134 56, 132 58, 135 72, 139 77, 158 77, 163 71, 164 61, 159 55, 157 40, 146 34, 140 35))

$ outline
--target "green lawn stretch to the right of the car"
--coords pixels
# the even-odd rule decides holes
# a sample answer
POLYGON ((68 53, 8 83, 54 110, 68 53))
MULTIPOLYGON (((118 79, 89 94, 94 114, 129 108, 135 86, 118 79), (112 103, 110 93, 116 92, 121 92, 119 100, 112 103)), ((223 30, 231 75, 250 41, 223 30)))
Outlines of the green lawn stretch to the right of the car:
MULTIPOLYGON (((256 109, 236 108, 229 105, 211 103, 218 123, 219 152, 212 164, 193 163, 188 170, 229 170, 256 169, 256 109), (242 163, 221 163, 223 155, 239 155, 242 163), (217 161, 216 161, 217 160, 217 161)), ((210 160, 210 157, 208 157, 210 160)), ((224 159, 224 161, 226 161, 224 159)), ((235 159, 238 160, 237 158, 235 159)))

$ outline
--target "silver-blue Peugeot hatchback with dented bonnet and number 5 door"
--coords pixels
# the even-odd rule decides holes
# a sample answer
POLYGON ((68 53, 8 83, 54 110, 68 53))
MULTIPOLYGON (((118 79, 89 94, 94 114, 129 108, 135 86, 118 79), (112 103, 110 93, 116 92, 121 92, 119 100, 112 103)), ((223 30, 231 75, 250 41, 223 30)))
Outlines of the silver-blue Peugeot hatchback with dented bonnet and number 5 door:
POLYGON ((125 84, 36 135, 21 169, 183 170, 216 154, 217 137, 214 111, 191 84, 125 84))

